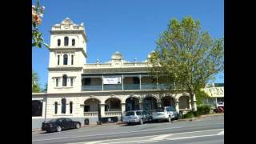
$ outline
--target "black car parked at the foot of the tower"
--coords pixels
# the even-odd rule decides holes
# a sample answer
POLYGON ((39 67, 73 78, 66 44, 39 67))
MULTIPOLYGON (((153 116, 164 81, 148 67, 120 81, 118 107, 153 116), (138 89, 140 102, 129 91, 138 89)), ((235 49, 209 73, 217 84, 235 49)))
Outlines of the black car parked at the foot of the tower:
POLYGON ((78 129, 81 127, 81 122, 73 121, 70 118, 54 118, 49 122, 42 122, 42 130, 47 133, 52 131, 62 131, 67 129, 78 129))

